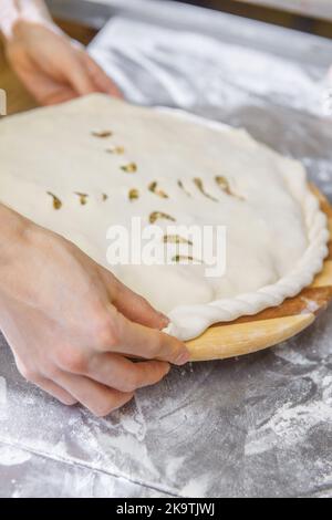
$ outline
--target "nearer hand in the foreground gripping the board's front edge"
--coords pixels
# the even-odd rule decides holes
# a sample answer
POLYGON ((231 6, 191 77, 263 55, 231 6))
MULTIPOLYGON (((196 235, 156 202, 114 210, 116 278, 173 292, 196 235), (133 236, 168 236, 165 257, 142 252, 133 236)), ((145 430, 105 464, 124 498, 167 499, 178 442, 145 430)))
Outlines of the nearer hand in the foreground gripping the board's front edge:
POLYGON ((1 211, 15 236, 1 233, 0 326, 28 381, 105 416, 160 381, 168 363, 188 361, 143 298, 62 237, 1 211))

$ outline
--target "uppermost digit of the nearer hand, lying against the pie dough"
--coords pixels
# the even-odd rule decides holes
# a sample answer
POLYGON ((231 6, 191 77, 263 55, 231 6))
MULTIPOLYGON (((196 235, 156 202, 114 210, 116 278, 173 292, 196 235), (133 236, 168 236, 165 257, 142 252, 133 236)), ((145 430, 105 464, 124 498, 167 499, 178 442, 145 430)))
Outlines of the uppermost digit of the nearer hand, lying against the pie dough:
POLYGON ((111 272, 103 270, 112 304, 128 320, 152 329, 165 329, 169 320, 156 311, 143 297, 121 283, 111 272))

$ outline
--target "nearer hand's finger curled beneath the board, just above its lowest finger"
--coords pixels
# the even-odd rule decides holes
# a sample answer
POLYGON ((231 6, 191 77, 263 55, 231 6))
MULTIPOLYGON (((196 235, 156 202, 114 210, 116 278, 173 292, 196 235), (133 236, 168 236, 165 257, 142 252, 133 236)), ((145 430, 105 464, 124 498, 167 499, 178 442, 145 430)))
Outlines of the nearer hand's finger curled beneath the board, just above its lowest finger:
POLYGON ((169 368, 169 364, 162 361, 133 363, 117 354, 106 353, 90 360, 85 375, 121 392, 134 392, 155 385, 168 374, 169 368))

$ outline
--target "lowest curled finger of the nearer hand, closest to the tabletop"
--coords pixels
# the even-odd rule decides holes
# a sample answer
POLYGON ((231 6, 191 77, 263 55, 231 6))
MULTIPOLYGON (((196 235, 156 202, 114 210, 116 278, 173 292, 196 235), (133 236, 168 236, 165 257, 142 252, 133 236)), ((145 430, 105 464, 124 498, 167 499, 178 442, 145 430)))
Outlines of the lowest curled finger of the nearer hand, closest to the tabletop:
POLYGON ((118 392, 87 377, 65 372, 58 375, 56 382, 97 417, 111 414, 131 401, 134 395, 132 392, 118 392))

